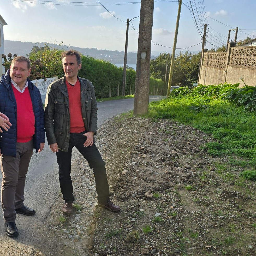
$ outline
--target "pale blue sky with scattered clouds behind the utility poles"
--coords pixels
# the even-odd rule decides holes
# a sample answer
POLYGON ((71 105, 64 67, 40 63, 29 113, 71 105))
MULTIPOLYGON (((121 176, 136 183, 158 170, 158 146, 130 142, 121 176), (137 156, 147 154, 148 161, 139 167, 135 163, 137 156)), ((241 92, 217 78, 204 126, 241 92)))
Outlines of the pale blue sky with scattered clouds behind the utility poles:
MULTIPOLYGON (((4 39, 48 42, 81 48, 124 51, 127 19, 140 16, 140 0, 0 0, 4 39), (100 4, 101 3, 101 4, 100 4)), ((255 0, 182 0, 176 54, 256 37, 255 0), (192 8, 191 8, 192 5, 192 8), (193 9, 193 12, 192 12, 193 9), (234 39, 234 31, 230 39, 234 39)), ((178 1, 155 0, 151 51, 172 52, 178 1)), ((128 51, 137 52, 140 18, 130 22, 128 51)))

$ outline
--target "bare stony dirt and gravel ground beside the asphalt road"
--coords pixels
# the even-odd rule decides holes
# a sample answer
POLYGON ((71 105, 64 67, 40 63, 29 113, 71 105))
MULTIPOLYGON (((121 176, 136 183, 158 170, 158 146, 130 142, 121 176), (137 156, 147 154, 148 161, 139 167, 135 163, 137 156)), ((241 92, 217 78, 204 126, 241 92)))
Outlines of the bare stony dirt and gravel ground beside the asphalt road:
POLYGON ((63 244, 58 254, 256 255, 255 182, 239 178, 243 168, 229 157, 210 157, 202 149, 210 141, 172 120, 127 114, 103 124, 96 142, 122 209, 97 207, 93 172, 75 152, 79 209, 61 213, 60 194, 47 220, 63 244))

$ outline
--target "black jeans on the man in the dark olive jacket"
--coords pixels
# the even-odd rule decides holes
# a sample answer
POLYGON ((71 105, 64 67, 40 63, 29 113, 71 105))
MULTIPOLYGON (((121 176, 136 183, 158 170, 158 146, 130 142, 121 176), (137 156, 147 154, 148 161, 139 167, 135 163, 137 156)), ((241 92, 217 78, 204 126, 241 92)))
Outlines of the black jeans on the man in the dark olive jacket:
POLYGON ((64 201, 73 202, 73 185, 70 176, 72 148, 76 147, 82 156, 87 160, 90 168, 93 169, 98 202, 101 204, 109 201, 109 184, 106 175, 105 162, 103 161, 96 145, 85 147, 84 142, 87 137, 82 133, 70 133, 68 152, 59 150, 56 152, 57 163, 59 165, 59 185, 64 201))

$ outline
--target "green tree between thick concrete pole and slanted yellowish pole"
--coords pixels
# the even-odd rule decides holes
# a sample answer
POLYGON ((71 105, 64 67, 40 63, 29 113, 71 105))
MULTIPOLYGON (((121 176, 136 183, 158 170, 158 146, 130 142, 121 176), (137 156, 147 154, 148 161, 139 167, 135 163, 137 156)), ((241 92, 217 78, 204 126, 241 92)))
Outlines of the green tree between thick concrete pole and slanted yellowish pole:
MULTIPOLYGON (((169 64, 169 70, 167 67, 167 78, 170 73, 171 55, 168 52, 160 53, 156 59, 151 59, 150 62, 150 76, 156 79, 165 80, 166 63, 169 64)), ((167 79, 168 80, 168 79, 167 79)))

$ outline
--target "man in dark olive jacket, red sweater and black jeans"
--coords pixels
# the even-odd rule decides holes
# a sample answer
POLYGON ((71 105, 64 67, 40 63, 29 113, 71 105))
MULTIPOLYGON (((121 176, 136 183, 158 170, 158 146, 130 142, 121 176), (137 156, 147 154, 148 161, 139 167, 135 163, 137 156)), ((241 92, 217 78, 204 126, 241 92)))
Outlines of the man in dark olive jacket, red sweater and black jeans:
POLYGON ((62 64, 65 76, 49 85, 45 99, 45 131, 59 165, 59 184, 65 201, 62 210, 67 214, 73 210, 70 172, 72 148, 76 147, 93 168, 98 205, 118 212, 121 208, 109 199, 105 163, 95 145, 98 108, 93 84, 78 77, 81 69, 78 51, 63 52, 62 64))

